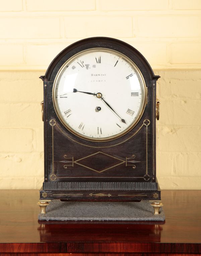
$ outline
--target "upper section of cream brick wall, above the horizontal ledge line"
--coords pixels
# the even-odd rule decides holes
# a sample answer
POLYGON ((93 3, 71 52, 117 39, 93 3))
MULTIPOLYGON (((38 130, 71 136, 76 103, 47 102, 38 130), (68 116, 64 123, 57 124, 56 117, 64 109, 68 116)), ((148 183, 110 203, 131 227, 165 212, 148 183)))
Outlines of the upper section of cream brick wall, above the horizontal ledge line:
POLYGON ((200 0, 7 0, 0 22, 1 70, 47 69, 92 36, 132 44, 155 69, 201 68, 200 0))

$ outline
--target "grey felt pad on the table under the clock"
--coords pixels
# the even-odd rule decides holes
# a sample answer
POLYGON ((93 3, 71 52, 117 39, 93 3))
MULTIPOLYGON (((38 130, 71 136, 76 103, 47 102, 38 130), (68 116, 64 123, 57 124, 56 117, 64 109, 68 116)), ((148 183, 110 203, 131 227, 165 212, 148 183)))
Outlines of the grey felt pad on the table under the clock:
POLYGON ((163 221, 160 214, 153 214, 149 201, 141 202, 61 202, 52 200, 46 207, 46 214, 39 214, 39 220, 123 220, 163 221))

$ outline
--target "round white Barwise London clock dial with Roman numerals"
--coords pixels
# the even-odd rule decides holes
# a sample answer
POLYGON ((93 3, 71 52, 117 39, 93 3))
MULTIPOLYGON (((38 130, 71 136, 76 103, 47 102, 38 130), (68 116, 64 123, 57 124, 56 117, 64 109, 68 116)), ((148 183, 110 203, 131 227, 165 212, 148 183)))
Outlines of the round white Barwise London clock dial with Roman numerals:
POLYGON ((128 57, 93 48, 74 55, 60 68, 53 101, 59 119, 73 134, 108 141, 123 136, 139 121, 146 87, 128 57))

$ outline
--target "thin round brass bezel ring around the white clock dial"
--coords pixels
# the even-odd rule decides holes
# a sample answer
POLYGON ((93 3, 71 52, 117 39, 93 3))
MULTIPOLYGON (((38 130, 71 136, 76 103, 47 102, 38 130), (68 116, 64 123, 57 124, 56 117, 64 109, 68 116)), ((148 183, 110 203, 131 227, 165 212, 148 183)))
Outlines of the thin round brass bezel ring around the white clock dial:
POLYGON ((80 51, 76 54, 74 54, 73 56, 71 56, 68 60, 65 61, 65 63, 60 67, 59 71, 56 74, 55 80, 54 80, 54 84, 53 84, 53 90, 52 90, 52 98, 53 98, 53 105, 54 105, 54 109, 55 112, 59 118, 59 120, 61 121, 61 123, 65 126, 65 128, 70 131, 72 134, 76 135, 77 137, 87 140, 87 141, 94 141, 94 142, 107 142, 107 141, 111 141, 111 140, 115 140, 117 138, 120 138, 122 136, 124 136, 125 134, 127 134, 128 132, 130 132, 134 126, 139 122, 139 120, 141 119, 143 113, 144 113, 144 109, 146 106, 146 99, 147 99, 147 91, 146 91, 146 84, 145 84, 145 80, 144 77, 140 71, 140 69, 137 67, 137 65, 130 59, 128 58, 126 55, 124 55, 123 53, 113 50, 113 49, 109 49, 109 48, 105 48, 105 47, 99 47, 99 48, 88 48, 85 49, 83 51, 80 51), (138 116, 136 117, 136 119, 127 127, 126 130, 124 130, 121 133, 118 133, 114 136, 109 136, 109 137, 104 137, 104 138, 91 138, 89 136, 84 136, 78 132, 76 132, 75 130, 73 130, 65 121, 65 119, 63 118, 59 108, 58 108, 58 104, 57 104, 57 100, 56 100, 56 89, 57 89, 57 83, 58 80, 60 78, 60 75, 62 74, 63 70, 66 69, 66 66, 71 63, 72 60, 78 58, 79 56, 85 54, 85 53, 90 53, 90 52, 99 52, 99 51, 103 51, 103 52, 109 52, 109 53, 114 53, 114 54, 118 54, 118 56, 120 56, 121 58, 123 58, 125 61, 127 61, 136 71, 136 74, 139 77, 139 81, 141 84, 141 89, 142 89, 142 95, 143 95, 143 99, 142 99, 142 103, 141 103, 141 109, 138 113, 138 116))

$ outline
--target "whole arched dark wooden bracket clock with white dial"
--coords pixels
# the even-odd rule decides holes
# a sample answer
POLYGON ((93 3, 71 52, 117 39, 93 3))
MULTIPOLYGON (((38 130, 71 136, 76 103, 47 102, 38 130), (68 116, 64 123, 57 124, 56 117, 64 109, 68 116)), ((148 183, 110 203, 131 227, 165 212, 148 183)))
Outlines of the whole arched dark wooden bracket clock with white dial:
POLYGON ((142 54, 117 39, 87 38, 60 52, 40 78, 45 172, 39 204, 160 200, 159 76, 142 54))

